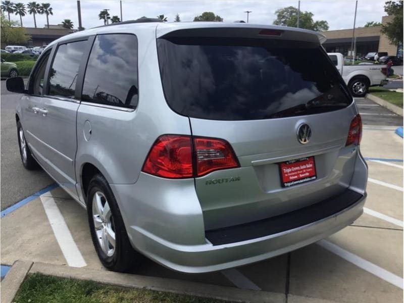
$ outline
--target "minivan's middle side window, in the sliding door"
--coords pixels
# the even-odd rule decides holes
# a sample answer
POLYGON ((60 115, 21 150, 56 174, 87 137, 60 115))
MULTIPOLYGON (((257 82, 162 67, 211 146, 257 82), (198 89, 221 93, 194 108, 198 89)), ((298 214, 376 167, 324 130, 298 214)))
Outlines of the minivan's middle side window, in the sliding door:
POLYGON ((86 43, 87 40, 59 45, 49 71, 49 95, 74 98, 77 75, 86 43))

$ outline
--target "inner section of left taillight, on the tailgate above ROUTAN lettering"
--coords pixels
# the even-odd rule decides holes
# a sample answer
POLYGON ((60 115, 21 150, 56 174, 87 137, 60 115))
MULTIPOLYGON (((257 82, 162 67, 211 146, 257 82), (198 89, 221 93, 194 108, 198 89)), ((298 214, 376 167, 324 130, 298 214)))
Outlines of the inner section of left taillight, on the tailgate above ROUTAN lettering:
POLYGON ((196 149, 196 176, 200 177, 219 169, 238 167, 230 144, 221 139, 194 138, 196 149))

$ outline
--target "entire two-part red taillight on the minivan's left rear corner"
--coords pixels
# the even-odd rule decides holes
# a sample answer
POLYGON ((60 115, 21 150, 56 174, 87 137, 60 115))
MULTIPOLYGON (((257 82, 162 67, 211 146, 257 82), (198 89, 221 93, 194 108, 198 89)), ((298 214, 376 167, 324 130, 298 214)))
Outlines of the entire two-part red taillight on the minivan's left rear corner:
POLYGON ((239 163, 230 144, 221 139, 163 135, 151 146, 142 171, 163 178, 200 177, 239 163))

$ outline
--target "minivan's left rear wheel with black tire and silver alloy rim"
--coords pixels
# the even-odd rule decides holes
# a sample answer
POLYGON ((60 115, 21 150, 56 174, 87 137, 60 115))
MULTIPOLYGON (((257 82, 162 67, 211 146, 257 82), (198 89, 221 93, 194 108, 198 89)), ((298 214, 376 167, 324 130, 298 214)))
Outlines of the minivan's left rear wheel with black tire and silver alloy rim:
POLYGON ((95 175, 87 191, 91 238, 101 263, 109 270, 126 272, 141 255, 130 241, 114 194, 104 176, 95 175))

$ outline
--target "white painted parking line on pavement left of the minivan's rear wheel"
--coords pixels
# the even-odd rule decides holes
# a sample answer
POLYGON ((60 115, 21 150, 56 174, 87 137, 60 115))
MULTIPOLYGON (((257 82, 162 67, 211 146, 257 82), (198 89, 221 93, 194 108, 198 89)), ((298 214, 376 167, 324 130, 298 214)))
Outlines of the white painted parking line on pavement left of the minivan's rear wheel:
MULTIPOLYGON (((49 192, 50 193, 50 192, 49 192)), ((51 196, 40 195, 43 208, 45 210, 47 219, 51 224, 54 231, 56 240, 62 250, 63 256, 67 261, 67 264, 72 267, 83 267, 85 263, 83 256, 76 243, 73 240, 69 227, 67 227, 65 219, 55 203, 54 198, 51 196)))

